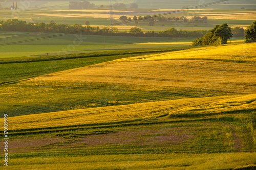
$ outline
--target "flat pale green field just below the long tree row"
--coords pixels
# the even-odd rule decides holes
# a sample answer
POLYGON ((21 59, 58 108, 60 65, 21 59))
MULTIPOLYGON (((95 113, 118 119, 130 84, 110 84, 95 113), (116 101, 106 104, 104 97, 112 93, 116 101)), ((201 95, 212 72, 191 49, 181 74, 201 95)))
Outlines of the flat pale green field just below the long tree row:
POLYGON ((157 38, 157 37, 115 37, 115 36, 91 36, 74 34, 54 34, 54 33, 9 33, 0 32, 0 58, 25 57, 25 56, 46 56, 81 53, 103 50, 118 50, 130 48, 159 48, 169 46, 187 46, 195 38, 157 38), (53 36, 53 37, 52 37, 53 36), (47 38, 49 37, 49 38, 47 38), (41 39, 43 38, 43 39, 41 39), (45 39, 47 38, 47 39, 45 39), (18 41, 33 40, 14 45, 1 46, 1 44, 18 41), (37 40, 39 39, 39 40, 37 40), (51 44, 49 44, 51 42, 51 44), (159 45, 139 44, 139 43, 166 43, 159 45), (180 42, 185 42, 182 44, 180 42), (172 43, 172 44, 168 44, 172 43))

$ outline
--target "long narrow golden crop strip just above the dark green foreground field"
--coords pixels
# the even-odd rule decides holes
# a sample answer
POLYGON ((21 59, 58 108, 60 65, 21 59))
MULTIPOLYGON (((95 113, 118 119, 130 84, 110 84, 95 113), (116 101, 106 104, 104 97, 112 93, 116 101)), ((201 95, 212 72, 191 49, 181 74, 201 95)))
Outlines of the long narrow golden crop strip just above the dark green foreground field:
POLYGON ((171 117, 189 113, 198 114, 199 116, 203 113, 207 113, 208 116, 217 116, 218 113, 255 108, 256 94, 249 94, 70 110, 42 113, 36 116, 24 115, 12 117, 9 123, 12 125, 10 130, 21 130, 102 123, 112 124, 125 120, 153 119, 163 114, 171 117))

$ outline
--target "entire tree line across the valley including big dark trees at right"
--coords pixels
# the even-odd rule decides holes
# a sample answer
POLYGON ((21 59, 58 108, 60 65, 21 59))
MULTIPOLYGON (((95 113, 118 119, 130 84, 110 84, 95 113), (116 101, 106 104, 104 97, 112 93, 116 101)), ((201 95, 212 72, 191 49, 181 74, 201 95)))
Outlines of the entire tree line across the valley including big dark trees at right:
MULTIPOLYGON (((183 31, 170 28, 165 31, 155 32, 147 31, 143 32, 140 28, 134 27, 129 32, 119 32, 116 27, 110 29, 109 27, 99 28, 82 26, 75 23, 74 25, 56 24, 51 21, 49 24, 41 23, 27 23, 26 21, 18 19, 8 19, 7 21, 0 21, 0 31, 20 31, 20 32, 51 32, 51 33, 76 33, 88 35, 113 35, 113 36, 141 36, 141 37, 202 37, 193 42, 193 45, 218 45, 227 43, 227 39, 232 36, 243 36, 244 29, 236 27, 231 29, 227 23, 223 25, 217 25, 214 29, 207 30, 195 30, 195 31, 183 31)), ((245 30, 245 38, 247 42, 256 41, 256 21, 253 22, 245 30)))

